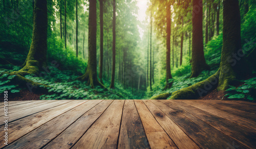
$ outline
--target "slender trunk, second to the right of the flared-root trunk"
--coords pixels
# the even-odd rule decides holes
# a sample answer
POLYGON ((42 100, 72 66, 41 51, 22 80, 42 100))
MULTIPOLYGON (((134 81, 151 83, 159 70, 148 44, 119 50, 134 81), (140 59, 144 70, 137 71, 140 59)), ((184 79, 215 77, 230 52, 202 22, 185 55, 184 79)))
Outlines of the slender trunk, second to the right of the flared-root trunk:
POLYGON ((112 74, 110 88, 115 87, 115 69, 116 69, 116 0, 113 0, 113 47, 112 47, 112 74))

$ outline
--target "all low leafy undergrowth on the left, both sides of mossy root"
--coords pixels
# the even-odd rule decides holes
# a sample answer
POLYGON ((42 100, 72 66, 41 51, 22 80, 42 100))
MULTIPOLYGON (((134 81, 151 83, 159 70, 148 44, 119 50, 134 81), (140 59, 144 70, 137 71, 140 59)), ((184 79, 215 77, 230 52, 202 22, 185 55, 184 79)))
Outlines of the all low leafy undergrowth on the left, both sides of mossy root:
MULTIPOLYGON (((19 69, 17 67, 16 69, 19 69)), ((2 70, 0 72, 4 72, 2 70)), ((21 87, 18 84, 11 82, 15 76, 8 76, 3 74, 0 77, 0 93, 8 90, 11 93, 18 93, 20 90, 29 90, 29 87, 21 87)), ((27 75, 25 78, 37 83, 48 85, 46 91, 39 91, 43 95, 40 96, 40 100, 96 100, 96 99, 132 99, 134 95, 124 90, 121 85, 116 84, 114 89, 97 87, 92 89, 86 85, 86 82, 75 80, 76 74, 72 71, 62 70, 52 67, 49 73, 44 73, 41 77, 27 75)), ((104 81, 106 86, 109 86, 109 82, 104 81)), ((30 87, 31 91, 38 92, 38 89, 30 87)), ((136 97, 139 98, 139 97, 136 97)), ((28 99, 29 100, 29 99, 28 99)))

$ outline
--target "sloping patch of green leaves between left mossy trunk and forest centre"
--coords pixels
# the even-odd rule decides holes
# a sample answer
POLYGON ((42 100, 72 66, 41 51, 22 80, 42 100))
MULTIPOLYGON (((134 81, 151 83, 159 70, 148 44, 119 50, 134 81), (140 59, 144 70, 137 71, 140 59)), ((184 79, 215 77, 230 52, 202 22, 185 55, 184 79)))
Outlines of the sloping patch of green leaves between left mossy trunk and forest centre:
POLYGON ((60 71, 51 68, 51 73, 44 77, 27 75, 25 78, 34 82, 46 84, 49 94, 40 96, 41 100, 95 100, 95 99, 129 99, 132 93, 123 90, 120 85, 115 89, 104 89, 96 87, 92 89, 85 82, 75 80, 78 76, 71 71, 60 71))

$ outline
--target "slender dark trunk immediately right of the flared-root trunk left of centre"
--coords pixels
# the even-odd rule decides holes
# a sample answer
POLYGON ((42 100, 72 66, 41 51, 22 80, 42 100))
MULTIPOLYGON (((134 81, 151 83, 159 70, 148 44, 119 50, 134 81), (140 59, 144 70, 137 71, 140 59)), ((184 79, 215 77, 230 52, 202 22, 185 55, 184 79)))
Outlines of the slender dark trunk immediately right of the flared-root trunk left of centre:
POLYGON ((99 58, 99 79, 100 82, 102 81, 102 73, 103 73, 103 0, 99 0, 99 7, 100 7, 100 58, 99 58))

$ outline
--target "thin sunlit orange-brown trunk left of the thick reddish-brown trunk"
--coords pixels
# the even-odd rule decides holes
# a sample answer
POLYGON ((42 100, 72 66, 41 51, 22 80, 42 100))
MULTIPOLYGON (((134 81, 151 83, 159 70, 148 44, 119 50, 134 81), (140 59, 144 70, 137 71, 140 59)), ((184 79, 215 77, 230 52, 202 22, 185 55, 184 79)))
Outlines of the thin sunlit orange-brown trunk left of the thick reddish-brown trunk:
POLYGON ((166 7, 166 85, 165 89, 172 87, 173 83, 169 83, 169 79, 172 79, 172 74, 170 73, 170 30, 171 30, 171 20, 170 20, 170 5, 166 7))

